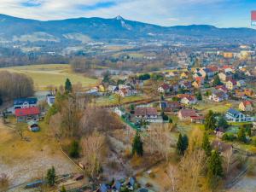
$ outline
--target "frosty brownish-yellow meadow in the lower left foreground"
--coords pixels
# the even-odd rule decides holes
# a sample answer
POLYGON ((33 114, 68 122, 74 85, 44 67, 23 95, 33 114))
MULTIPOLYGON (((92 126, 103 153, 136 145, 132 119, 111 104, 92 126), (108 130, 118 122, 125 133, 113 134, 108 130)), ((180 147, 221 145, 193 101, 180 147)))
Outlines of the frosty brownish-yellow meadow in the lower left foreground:
POLYGON ((25 127, 26 140, 21 140, 13 130, 13 123, 3 125, 0 121, 0 174, 8 175, 10 186, 41 178, 51 166, 55 166, 57 174, 79 172, 61 153, 59 144, 50 136, 48 125, 40 123, 39 132, 28 131, 25 127))

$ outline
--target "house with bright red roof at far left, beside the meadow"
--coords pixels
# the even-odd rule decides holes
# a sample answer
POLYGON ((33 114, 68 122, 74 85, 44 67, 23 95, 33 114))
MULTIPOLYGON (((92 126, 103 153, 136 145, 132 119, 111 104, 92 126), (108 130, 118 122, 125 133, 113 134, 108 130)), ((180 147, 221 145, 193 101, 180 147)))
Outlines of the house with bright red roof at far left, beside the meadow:
POLYGON ((39 108, 17 108, 15 109, 15 116, 18 122, 27 122, 29 120, 38 120, 39 108))

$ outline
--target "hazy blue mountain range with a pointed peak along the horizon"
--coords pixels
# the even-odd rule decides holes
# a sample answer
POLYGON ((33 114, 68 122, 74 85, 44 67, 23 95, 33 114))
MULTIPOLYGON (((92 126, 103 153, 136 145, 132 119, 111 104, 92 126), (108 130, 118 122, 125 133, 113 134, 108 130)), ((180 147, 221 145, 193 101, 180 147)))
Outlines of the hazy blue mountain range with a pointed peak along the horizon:
POLYGON ((98 17, 67 20, 28 20, 0 15, 1 42, 111 42, 177 41, 177 42, 256 42, 251 28, 218 28, 209 25, 157 26, 125 20, 98 17))

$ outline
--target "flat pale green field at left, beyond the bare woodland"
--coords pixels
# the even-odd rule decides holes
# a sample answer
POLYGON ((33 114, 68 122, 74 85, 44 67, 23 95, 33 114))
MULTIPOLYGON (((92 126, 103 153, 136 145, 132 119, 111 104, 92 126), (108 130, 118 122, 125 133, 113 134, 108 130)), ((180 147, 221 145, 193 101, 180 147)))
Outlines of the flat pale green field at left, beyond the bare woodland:
POLYGON ((26 73, 31 77, 36 90, 45 90, 50 84, 60 86, 68 78, 73 84, 81 83, 84 87, 91 87, 97 84, 97 79, 84 77, 82 74, 73 73, 69 65, 51 64, 51 65, 32 65, 21 67, 6 67, 0 71, 7 70, 15 73, 26 73))

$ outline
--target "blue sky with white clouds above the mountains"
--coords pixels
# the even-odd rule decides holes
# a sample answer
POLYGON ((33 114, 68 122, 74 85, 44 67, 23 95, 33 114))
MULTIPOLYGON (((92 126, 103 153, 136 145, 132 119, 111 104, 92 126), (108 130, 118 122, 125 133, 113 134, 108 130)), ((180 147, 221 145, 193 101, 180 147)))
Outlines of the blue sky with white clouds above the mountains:
POLYGON ((1 14, 28 19, 121 15, 160 26, 251 27, 252 10, 256 0, 0 0, 1 14))

